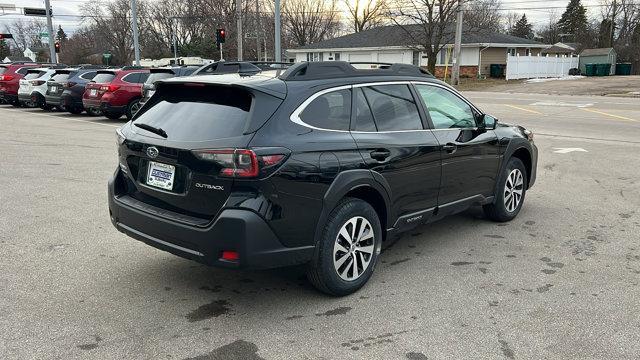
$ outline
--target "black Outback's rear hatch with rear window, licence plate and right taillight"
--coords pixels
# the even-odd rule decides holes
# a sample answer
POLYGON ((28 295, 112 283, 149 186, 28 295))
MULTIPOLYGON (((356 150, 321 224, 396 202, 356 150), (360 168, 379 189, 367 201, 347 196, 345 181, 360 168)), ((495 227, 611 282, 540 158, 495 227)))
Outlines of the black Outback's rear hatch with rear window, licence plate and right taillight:
POLYGON ((234 182, 254 181, 275 165, 276 158, 246 147, 281 103, 242 87, 160 83, 122 129, 120 167, 128 185, 119 195, 205 222, 213 219, 234 182))

